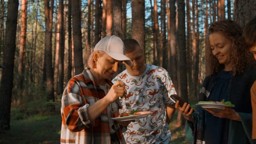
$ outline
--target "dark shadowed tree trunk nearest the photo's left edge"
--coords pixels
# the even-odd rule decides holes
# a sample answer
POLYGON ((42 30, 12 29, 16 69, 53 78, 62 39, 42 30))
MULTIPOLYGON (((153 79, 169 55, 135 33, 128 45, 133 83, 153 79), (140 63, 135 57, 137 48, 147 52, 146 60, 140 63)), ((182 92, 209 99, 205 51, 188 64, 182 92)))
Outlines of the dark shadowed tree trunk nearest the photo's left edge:
POLYGON ((8 0, 5 29, 5 47, 0 87, 0 133, 10 129, 13 87, 14 54, 19 0, 8 0))

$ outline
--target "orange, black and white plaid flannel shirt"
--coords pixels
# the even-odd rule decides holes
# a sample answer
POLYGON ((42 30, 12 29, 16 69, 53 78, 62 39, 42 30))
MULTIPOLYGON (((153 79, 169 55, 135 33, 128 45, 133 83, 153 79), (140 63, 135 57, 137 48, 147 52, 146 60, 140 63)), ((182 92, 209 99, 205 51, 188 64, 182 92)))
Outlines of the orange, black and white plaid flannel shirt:
MULTIPOLYGON (((112 86, 110 80, 106 80, 112 86)), ((102 111, 94 121, 90 121, 88 107, 105 96, 104 91, 93 80, 89 68, 73 77, 63 91, 61 100, 61 144, 110 144, 108 110, 112 116, 119 113, 118 100, 102 111)), ((125 144, 119 124, 114 122, 114 130, 120 144, 125 144)))

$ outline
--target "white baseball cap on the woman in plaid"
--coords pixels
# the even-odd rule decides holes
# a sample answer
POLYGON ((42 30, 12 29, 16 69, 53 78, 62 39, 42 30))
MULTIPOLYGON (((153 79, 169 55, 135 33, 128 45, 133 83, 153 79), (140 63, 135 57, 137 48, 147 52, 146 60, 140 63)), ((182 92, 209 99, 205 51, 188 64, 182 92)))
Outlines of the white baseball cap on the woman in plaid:
POLYGON ((132 60, 125 56, 125 47, 122 39, 114 35, 107 36, 102 39, 95 45, 94 51, 100 50, 105 51, 109 56, 115 60, 124 61, 130 67, 133 66, 132 60))

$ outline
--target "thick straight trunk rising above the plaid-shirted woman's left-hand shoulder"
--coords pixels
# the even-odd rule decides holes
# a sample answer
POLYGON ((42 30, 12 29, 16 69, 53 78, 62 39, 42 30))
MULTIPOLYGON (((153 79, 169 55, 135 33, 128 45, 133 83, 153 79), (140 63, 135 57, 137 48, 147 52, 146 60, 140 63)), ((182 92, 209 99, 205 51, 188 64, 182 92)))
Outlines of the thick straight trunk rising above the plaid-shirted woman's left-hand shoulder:
POLYGON ((81 33, 81 7, 80 0, 71 1, 72 9, 72 28, 74 41, 74 68, 75 74, 80 74, 84 70, 82 33, 81 33))

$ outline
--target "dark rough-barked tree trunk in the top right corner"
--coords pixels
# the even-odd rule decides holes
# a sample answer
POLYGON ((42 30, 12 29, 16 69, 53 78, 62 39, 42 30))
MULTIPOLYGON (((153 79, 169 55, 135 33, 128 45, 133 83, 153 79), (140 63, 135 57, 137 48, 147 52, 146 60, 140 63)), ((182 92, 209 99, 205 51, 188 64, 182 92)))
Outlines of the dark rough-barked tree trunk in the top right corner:
POLYGON ((235 0, 234 2, 234 21, 240 27, 244 25, 256 14, 256 0, 235 0))

